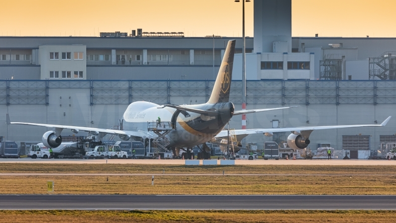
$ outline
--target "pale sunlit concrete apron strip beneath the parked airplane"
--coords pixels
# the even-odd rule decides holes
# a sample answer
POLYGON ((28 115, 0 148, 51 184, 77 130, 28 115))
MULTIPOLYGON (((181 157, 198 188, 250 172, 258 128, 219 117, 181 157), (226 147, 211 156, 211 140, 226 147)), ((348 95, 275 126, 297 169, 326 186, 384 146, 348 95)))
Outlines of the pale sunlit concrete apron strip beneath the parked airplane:
MULTIPOLYGON (((114 160, 114 159, 0 159, 1 163, 56 163, 56 164, 160 164, 160 165, 184 165, 185 160, 114 160)), ((217 161, 220 165, 220 160, 217 161)), ((200 160, 202 165, 202 160, 200 160)), ((363 165, 363 166, 396 166, 395 160, 236 160, 236 165, 363 165)))

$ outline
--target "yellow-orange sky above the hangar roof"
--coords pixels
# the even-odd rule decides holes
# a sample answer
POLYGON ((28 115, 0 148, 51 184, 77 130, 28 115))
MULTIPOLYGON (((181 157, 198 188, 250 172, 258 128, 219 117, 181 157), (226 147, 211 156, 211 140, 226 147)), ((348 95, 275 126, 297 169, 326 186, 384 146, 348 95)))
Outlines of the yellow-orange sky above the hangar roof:
MULTIPOLYGON (((292 36, 396 37, 396 0, 292 0, 292 36)), ((0 0, 0 35, 98 36, 99 32, 184 31, 242 36, 234 0, 0 0)), ((253 36, 253 0, 246 3, 253 36)))

